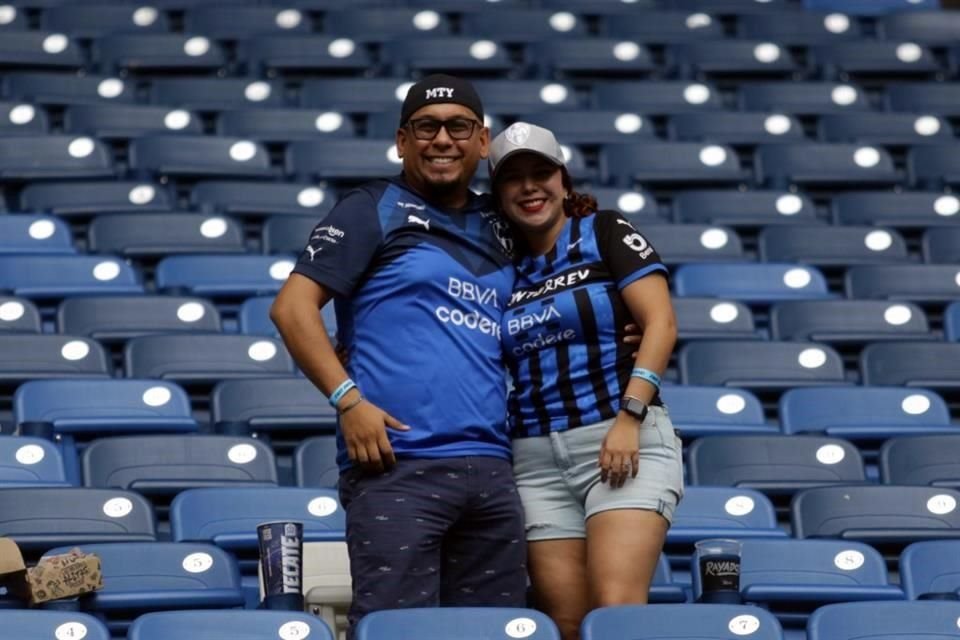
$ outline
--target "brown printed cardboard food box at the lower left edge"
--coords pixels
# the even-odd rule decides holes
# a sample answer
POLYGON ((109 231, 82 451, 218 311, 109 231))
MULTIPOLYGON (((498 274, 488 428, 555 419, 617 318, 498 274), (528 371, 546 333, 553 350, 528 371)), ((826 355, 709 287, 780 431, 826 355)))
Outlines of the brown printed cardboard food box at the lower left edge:
POLYGON ((32 604, 72 598, 103 587, 100 558, 72 549, 43 558, 27 569, 16 543, 0 538, 0 584, 6 586, 10 596, 32 604))

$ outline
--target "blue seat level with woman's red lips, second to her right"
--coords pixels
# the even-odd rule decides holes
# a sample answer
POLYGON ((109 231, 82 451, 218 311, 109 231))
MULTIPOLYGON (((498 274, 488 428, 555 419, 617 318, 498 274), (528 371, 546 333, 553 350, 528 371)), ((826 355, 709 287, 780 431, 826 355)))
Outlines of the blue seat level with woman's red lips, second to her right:
POLYGON ((680 191, 673 198, 676 222, 767 226, 809 224, 817 210, 806 194, 785 191, 680 191))

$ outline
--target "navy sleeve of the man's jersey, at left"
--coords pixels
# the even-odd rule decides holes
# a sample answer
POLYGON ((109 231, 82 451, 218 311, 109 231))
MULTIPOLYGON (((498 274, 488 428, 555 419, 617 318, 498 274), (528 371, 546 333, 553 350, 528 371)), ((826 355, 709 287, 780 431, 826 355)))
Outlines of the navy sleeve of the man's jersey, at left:
POLYGON ((383 241, 373 195, 351 191, 310 232, 293 273, 306 276, 339 296, 360 283, 383 241))

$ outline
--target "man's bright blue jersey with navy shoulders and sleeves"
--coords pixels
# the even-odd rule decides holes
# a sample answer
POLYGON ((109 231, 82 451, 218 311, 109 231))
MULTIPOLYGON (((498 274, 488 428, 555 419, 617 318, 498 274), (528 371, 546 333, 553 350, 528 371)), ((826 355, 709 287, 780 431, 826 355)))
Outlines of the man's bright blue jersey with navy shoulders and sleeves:
POLYGON ((336 295, 350 377, 411 427, 387 430, 397 456, 509 459, 500 321, 515 271, 489 198, 445 211, 402 178, 367 183, 314 228, 294 273, 336 295))

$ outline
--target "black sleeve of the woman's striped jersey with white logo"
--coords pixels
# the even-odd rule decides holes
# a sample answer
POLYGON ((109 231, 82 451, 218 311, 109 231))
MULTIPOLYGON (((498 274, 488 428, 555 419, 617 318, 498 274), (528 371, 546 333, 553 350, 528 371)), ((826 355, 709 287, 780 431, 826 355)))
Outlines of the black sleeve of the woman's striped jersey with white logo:
POLYGON ((626 218, 616 211, 599 211, 595 217, 597 248, 618 289, 651 273, 669 276, 656 249, 626 218))

